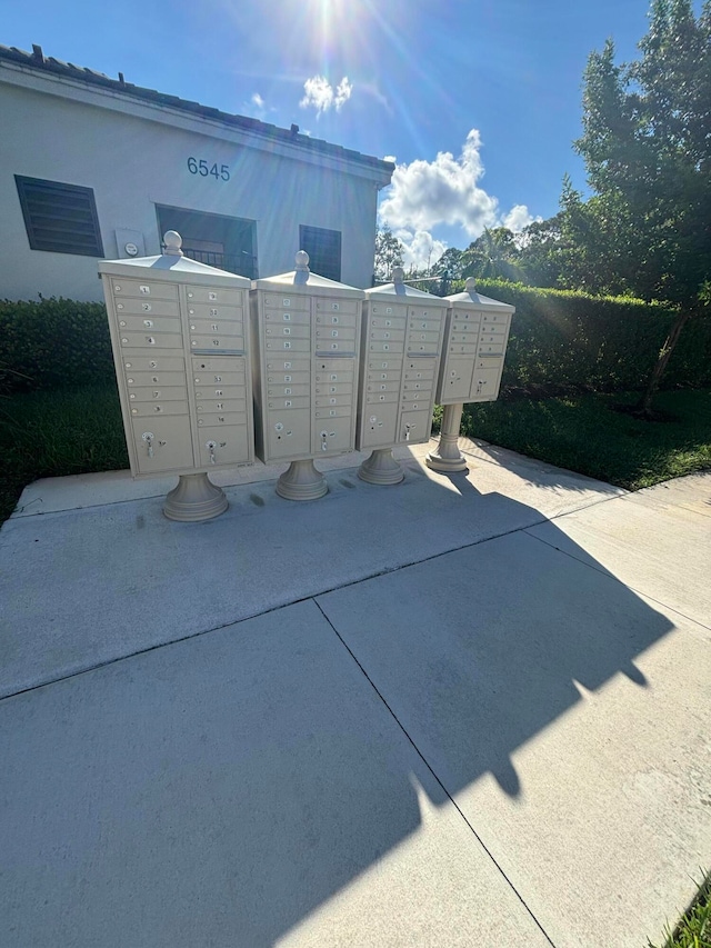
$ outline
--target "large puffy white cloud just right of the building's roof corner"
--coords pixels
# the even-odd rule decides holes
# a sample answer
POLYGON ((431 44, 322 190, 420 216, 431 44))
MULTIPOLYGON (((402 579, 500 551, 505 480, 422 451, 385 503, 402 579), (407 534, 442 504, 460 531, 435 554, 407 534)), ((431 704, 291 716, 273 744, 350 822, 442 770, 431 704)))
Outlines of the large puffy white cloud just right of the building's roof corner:
POLYGON ((484 166, 481 136, 472 129, 459 158, 440 151, 434 161, 415 160, 398 164, 392 184, 380 204, 380 220, 393 231, 414 236, 439 224, 459 224, 473 240, 484 228, 504 224, 517 229, 532 220, 525 204, 517 204, 501 216, 499 201, 479 187, 484 166))

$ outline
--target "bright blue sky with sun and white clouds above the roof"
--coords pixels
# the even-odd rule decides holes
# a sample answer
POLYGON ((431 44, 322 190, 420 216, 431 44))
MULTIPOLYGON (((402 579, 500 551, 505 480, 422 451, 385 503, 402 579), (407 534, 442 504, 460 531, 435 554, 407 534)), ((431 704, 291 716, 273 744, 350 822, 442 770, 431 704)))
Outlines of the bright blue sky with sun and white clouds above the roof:
MULTIPOLYGON (((699 4, 695 4, 699 6, 699 4)), ((405 265, 584 192, 588 56, 637 57, 648 0, 0 0, 0 43, 395 161, 405 265)))

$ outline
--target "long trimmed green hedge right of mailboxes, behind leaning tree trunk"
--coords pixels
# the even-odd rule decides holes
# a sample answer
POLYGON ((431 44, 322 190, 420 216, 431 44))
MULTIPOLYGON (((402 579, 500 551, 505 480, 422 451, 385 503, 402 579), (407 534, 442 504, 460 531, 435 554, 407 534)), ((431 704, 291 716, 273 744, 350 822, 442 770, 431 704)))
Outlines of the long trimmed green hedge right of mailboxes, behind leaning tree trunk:
MULTIPOLYGON (((502 377, 509 389, 639 389, 674 320, 663 306, 621 297, 538 290, 502 280, 478 280, 477 290, 515 307, 502 377)), ((680 385, 711 385, 710 319, 687 325, 669 361, 663 386, 680 385)))

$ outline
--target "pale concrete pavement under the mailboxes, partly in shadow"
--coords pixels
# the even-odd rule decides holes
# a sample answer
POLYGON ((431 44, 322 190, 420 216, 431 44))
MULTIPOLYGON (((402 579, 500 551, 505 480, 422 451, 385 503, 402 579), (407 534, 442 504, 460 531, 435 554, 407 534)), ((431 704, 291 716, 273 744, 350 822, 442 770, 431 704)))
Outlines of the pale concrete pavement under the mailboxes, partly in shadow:
POLYGON ((0 532, 0 945, 639 946, 711 867, 711 473, 487 445, 38 481, 0 532), (216 480, 218 478, 216 477, 216 480))

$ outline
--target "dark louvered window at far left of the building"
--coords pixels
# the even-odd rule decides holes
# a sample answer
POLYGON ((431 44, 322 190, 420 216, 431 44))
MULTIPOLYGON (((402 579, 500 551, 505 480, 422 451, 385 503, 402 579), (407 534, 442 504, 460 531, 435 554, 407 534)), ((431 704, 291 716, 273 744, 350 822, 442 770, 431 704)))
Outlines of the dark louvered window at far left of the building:
POLYGON ((14 176, 32 250, 103 257, 91 188, 14 176))

